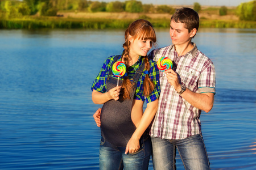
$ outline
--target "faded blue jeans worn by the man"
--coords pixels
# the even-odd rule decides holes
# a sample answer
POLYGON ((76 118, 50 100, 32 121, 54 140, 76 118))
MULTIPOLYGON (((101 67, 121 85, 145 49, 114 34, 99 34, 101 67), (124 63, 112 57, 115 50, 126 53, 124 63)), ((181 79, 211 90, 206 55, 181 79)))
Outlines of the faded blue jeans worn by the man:
POLYGON ((167 140, 151 137, 154 170, 176 169, 176 148, 185 169, 207 170, 210 163, 203 137, 193 135, 181 140, 167 140))

